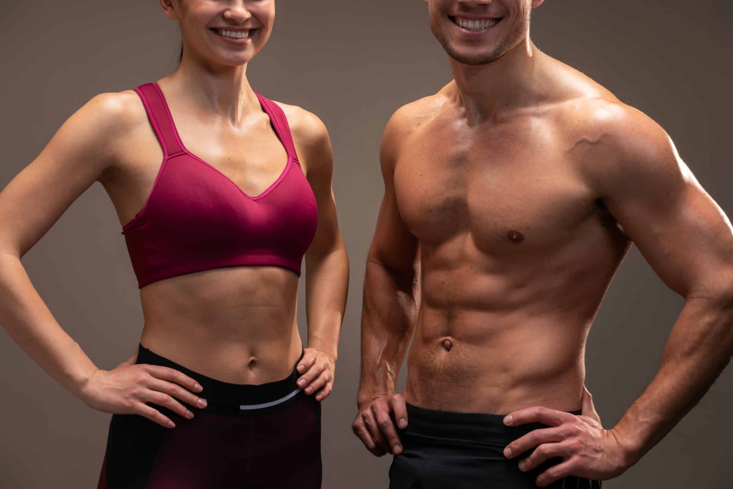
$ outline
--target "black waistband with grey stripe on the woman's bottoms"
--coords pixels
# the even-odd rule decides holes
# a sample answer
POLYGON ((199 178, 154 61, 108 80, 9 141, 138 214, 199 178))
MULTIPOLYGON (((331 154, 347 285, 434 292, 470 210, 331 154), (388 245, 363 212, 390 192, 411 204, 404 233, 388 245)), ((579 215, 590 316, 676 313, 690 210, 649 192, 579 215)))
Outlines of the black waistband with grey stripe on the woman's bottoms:
POLYGON ((301 350, 300 358, 292 366, 290 375, 286 378, 260 384, 229 383, 208 377, 148 350, 141 343, 138 346, 138 356, 135 363, 169 367, 179 370, 196 380, 203 387, 203 390, 194 392, 194 394, 203 397, 207 402, 205 408, 196 408, 199 411, 246 416, 248 414, 276 411, 305 395, 296 384, 301 376, 296 367, 298 362, 303 359, 304 353, 305 350, 301 350))

